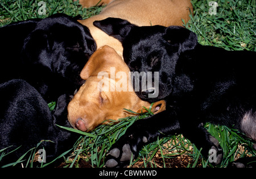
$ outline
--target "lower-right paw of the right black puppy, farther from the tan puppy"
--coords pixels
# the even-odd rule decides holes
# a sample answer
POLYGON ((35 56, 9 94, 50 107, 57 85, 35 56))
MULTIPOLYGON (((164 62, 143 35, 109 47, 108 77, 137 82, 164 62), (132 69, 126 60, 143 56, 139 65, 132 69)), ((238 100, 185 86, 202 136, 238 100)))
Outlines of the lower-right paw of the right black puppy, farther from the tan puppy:
POLYGON ((213 165, 218 165, 222 161, 223 150, 218 143, 218 140, 213 138, 213 136, 209 136, 210 141, 213 143, 212 147, 209 150, 209 163, 213 165))

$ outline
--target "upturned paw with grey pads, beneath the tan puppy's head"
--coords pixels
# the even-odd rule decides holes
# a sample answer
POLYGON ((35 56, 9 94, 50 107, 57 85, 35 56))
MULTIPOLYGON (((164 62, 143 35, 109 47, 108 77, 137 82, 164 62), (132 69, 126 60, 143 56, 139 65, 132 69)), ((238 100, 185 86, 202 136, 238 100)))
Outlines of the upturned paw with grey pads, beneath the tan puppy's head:
POLYGON ((134 156, 135 155, 131 151, 129 144, 115 147, 110 150, 109 155, 107 156, 106 167, 127 167, 130 163, 130 160, 134 159, 134 156))

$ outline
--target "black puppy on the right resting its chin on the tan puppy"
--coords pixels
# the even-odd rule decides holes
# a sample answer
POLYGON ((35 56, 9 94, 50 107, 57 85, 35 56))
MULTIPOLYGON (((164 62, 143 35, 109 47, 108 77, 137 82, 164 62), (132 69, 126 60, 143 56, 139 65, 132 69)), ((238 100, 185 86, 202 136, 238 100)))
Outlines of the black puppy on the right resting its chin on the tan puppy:
POLYGON ((256 140, 256 52, 200 45, 196 34, 183 27, 137 27, 116 18, 94 26, 122 42, 123 58, 133 72, 158 72, 150 88, 140 88, 137 95, 167 102, 166 111, 127 130, 113 145, 106 166, 123 166, 142 145, 178 132, 203 147, 204 156, 210 149, 209 161, 219 164, 223 152, 205 122, 236 128, 256 140))

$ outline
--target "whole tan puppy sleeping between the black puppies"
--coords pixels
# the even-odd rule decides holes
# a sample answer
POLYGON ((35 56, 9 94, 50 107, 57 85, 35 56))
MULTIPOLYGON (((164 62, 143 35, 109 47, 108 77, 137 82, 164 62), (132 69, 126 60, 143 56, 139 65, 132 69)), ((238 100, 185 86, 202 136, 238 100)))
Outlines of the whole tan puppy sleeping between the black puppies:
MULTIPOLYGON (((89 0, 82 2, 90 6, 96 1, 89 0)), ((101 1, 100 3, 103 2, 107 1, 101 1)), ((79 93, 69 105, 68 110, 69 121, 73 127, 82 131, 89 131, 98 124, 104 122, 105 119, 117 120, 118 118, 125 118, 128 113, 127 111, 123 110, 123 108, 134 110, 136 112, 140 111, 143 106, 142 104, 145 103, 137 97, 134 91, 128 90, 127 92, 115 90, 111 91, 112 93, 105 93, 111 97, 110 104, 102 103, 104 100, 99 101, 99 99, 102 99, 101 95, 104 94, 99 93, 99 91, 96 90, 98 82, 101 81, 99 78, 97 78, 97 73, 104 69, 102 64, 104 63, 105 67, 109 69, 111 67, 118 66, 119 71, 116 70, 116 73, 125 72, 127 77, 129 70, 127 70, 127 65, 125 63, 118 65, 121 64, 119 60, 122 60, 122 44, 117 39, 105 34, 103 31, 95 27, 93 22, 95 20, 101 20, 111 16, 130 20, 131 22, 136 23, 138 26, 146 26, 150 24, 162 24, 163 26, 176 24, 181 26, 183 24, 181 19, 184 19, 185 22, 187 22, 189 19, 189 9, 192 10, 192 5, 189 0, 162 0, 158 2, 154 0, 114 0, 109 3, 109 5, 106 6, 100 14, 85 20, 79 20, 80 23, 89 28, 93 39, 96 41, 97 49, 108 45, 109 47, 113 48, 114 51, 112 50, 112 53, 109 53, 108 59, 101 55, 103 54, 101 53, 102 50, 97 52, 97 55, 92 57, 93 60, 90 60, 94 62, 90 63, 90 65, 86 64, 85 68, 82 70, 81 77, 86 80, 86 83, 80 88, 79 93), (117 57, 116 53, 119 55, 119 57, 117 57), (95 56, 97 56, 97 58, 95 56), (91 74, 89 72, 91 72, 91 74), (96 109, 98 109, 99 106, 104 106, 102 107, 102 109, 104 109, 102 110, 102 113, 95 112, 98 111, 96 109), (109 109, 109 106, 111 106, 111 109, 109 109)), ((104 48, 104 50, 107 49, 109 48, 104 48)), ((111 82, 112 85, 118 85, 118 79, 111 82)), ((144 106, 149 107, 149 103, 146 103, 144 106)))

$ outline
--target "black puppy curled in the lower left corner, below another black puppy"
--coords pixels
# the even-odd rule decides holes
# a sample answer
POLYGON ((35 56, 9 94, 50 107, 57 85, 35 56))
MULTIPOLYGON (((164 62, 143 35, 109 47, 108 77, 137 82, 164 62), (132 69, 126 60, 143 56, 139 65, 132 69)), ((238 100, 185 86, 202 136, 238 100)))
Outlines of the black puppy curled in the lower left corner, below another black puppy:
MULTIPOLYGON (((36 147, 46 151, 49 163, 61 153, 73 148, 78 136, 61 130, 55 124, 71 127, 67 120, 67 97, 61 95, 55 111, 51 112, 42 95, 24 80, 10 80, 0 84, 0 149, 5 149, 0 166, 16 162, 20 156, 36 147), (50 140, 50 141, 48 141, 50 140)), ((40 153, 42 154, 42 153, 40 153)), ((28 159, 30 152, 22 159, 28 159)), ((20 161, 20 163, 22 162, 20 161)), ((26 165, 24 163, 24 166, 26 165)), ((38 165, 39 163, 34 163, 38 165)), ((21 167, 22 165, 16 164, 21 167)))

